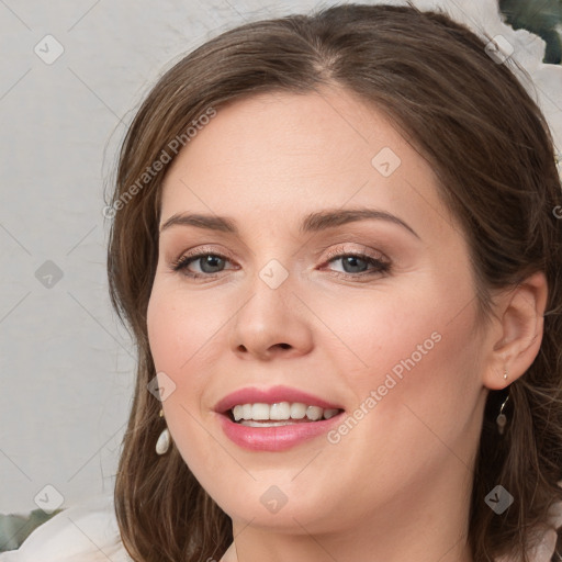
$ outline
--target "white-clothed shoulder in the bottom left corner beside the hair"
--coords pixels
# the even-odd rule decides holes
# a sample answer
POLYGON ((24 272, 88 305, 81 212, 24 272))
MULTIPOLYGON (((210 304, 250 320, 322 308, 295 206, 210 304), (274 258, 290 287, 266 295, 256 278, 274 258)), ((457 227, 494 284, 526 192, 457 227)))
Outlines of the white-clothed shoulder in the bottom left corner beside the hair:
POLYGON ((112 496, 68 507, 37 527, 0 562, 133 562, 121 542, 112 496))

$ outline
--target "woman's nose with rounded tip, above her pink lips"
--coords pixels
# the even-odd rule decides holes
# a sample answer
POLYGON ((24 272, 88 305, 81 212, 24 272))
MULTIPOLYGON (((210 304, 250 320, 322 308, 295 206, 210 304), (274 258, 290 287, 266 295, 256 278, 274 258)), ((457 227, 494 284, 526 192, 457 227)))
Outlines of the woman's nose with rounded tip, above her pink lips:
POLYGON ((294 293, 291 276, 277 288, 256 276, 240 302, 231 328, 231 348, 240 358, 267 361, 311 351, 313 314, 294 293))

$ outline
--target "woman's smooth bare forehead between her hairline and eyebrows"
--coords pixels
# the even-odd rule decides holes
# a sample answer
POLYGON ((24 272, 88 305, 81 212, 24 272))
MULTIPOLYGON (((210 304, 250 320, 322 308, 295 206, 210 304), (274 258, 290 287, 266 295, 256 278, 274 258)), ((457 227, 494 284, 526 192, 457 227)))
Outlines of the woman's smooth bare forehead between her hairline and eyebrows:
POLYGON ((341 90, 274 92, 217 109, 168 170, 161 217, 228 210, 271 226, 273 216, 289 224, 301 211, 374 205, 442 235, 452 220, 436 186, 382 111, 341 90))

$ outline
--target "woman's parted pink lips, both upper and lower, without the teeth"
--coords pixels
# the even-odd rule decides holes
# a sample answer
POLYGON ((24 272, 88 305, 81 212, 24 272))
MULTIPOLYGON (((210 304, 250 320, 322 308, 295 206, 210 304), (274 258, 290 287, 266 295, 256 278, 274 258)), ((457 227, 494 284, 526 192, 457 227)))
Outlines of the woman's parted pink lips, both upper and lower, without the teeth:
POLYGON ((308 406, 324 409, 344 409, 337 404, 329 403, 312 394, 289 386, 272 386, 267 390, 256 387, 240 389, 228 394, 214 407, 218 414, 221 427, 226 437, 234 443, 252 451, 283 451, 307 439, 326 434, 331 427, 341 423, 345 412, 319 422, 295 422, 286 426, 248 427, 234 423, 228 416, 237 404, 276 404, 279 402, 301 402, 308 406))

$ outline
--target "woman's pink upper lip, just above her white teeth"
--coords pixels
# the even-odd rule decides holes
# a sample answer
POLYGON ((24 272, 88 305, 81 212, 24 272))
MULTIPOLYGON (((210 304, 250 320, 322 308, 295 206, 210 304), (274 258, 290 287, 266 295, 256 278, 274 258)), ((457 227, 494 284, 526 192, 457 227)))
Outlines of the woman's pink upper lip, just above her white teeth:
POLYGON ((307 406, 318 406, 324 409, 344 409, 337 404, 333 404, 318 396, 314 396, 313 394, 308 394, 290 386, 270 386, 269 389, 248 386, 235 391, 220 400, 216 403, 214 411, 220 414, 224 414, 238 404, 277 404, 279 402, 300 402, 307 406))

